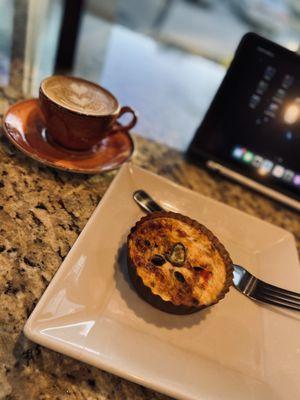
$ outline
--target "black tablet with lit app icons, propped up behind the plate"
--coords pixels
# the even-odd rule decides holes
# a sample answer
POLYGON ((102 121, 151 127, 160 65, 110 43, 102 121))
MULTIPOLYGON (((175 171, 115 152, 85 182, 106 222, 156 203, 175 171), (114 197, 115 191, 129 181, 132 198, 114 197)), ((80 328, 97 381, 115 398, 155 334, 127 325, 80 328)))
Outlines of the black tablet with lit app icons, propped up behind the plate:
POLYGON ((300 209, 300 56, 246 34, 187 152, 300 209))

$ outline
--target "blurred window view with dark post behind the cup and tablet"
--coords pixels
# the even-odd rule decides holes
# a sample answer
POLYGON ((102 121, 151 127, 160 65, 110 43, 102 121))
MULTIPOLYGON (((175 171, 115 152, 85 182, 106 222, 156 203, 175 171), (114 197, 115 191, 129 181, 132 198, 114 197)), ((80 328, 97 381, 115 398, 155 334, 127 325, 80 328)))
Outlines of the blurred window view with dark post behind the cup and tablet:
POLYGON ((249 31, 299 51, 300 0, 0 0, 0 86, 36 96, 45 76, 84 77, 185 149, 249 31))

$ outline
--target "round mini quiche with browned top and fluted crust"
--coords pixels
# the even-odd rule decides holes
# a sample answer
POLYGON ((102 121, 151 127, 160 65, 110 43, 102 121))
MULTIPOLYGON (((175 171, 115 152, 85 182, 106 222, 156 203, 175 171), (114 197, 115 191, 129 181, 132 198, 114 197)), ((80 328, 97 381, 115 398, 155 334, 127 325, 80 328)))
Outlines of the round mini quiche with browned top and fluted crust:
POLYGON ((127 239, 128 271, 138 294, 160 310, 190 314, 222 299, 232 261, 205 226, 181 214, 143 217, 127 239))

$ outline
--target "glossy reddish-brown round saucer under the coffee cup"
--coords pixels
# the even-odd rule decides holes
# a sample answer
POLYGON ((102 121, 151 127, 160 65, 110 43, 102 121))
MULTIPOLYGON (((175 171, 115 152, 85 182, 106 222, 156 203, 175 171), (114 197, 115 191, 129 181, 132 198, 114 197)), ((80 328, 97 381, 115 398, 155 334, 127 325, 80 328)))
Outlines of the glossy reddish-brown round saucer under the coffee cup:
POLYGON ((9 108, 3 118, 8 139, 23 153, 43 164, 65 171, 95 174, 119 167, 131 156, 134 145, 128 132, 116 132, 88 151, 65 149, 47 136, 38 99, 9 108))

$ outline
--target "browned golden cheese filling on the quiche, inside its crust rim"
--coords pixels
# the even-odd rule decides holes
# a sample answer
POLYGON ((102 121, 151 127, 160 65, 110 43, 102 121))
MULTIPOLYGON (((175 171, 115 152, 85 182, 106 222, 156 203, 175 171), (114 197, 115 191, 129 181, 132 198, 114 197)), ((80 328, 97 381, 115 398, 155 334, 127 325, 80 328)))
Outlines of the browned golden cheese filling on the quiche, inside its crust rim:
POLYGON ((140 224, 129 241, 129 254, 144 285, 173 304, 209 305, 224 287, 226 267, 219 251, 204 233, 175 218, 140 224), (186 250, 181 266, 166 258, 176 243, 186 250), (163 265, 155 265, 155 255, 164 258, 163 265))

